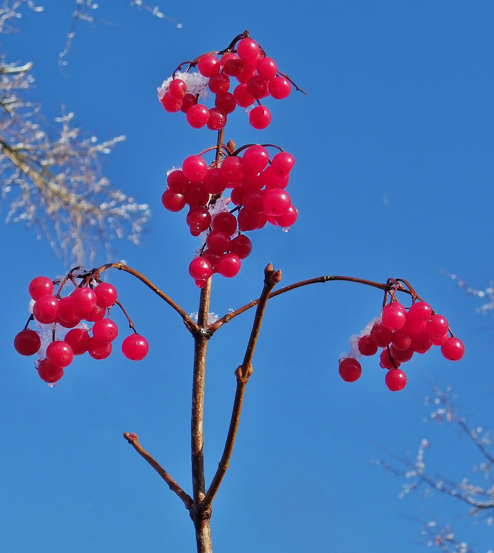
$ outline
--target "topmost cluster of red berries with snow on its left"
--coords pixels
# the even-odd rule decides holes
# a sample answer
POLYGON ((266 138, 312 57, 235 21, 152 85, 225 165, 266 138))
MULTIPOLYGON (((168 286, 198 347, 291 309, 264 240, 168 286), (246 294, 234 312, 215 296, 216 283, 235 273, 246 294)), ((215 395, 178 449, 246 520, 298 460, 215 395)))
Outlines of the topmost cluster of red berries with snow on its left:
POLYGON ((259 105, 248 113, 249 122, 254 128, 266 128, 271 114, 260 100, 268 96, 286 98, 291 90, 288 77, 278 71, 274 59, 267 57, 259 44, 249 37, 239 40, 237 50, 228 48, 219 53, 222 53, 220 58, 213 52, 201 55, 189 64, 189 68, 197 66, 199 75, 204 77, 203 86, 206 87, 207 83, 215 95, 214 107, 206 108, 198 103, 197 79, 190 79, 197 74, 188 72, 175 72, 172 79, 167 79, 158 90, 159 101, 169 112, 184 112, 190 126, 201 128, 206 125, 211 130, 224 128, 226 117, 237 106, 249 108, 257 101, 259 105), (235 77, 239 83, 232 92, 230 77, 235 77), (189 86, 188 80, 192 80, 189 86))

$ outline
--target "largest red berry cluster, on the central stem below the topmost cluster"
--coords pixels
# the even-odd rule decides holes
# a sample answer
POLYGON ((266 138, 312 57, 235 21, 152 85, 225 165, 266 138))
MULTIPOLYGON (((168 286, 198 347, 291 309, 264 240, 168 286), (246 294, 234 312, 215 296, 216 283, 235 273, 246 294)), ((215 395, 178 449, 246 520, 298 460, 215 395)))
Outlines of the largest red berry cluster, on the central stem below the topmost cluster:
MULTIPOLYGON (((241 260, 252 250, 242 232, 261 229, 266 222, 285 229, 295 223, 297 209, 285 190, 294 164, 289 153, 280 151, 270 159, 265 146, 253 144, 242 156, 228 155, 219 167, 190 155, 181 169, 168 175, 161 196, 164 207, 176 212, 188 205, 190 233, 208 232, 200 257, 189 266, 198 287, 204 287, 213 273, 237 275, 241 260), (218 211, 217 200, 226 188, 232 188, 228 200, 236 206, 232 212, 218 211)), ((225 202, 222 205, 226 210, 225 202)))

